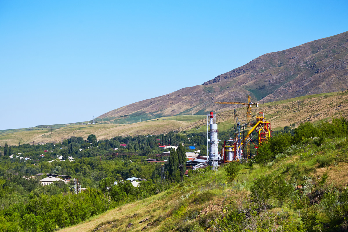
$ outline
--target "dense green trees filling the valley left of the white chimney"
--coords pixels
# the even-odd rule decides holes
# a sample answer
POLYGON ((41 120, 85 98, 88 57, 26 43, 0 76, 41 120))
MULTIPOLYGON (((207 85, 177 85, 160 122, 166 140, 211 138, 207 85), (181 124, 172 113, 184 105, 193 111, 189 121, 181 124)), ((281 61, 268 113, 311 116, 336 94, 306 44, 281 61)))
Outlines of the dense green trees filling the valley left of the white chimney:
POLYGON ((56 144, 6 144, 0 147, 3 154, 0 157, 0 231, 53 231, 56 227, 73 225, 123 203, 159 193, 186 178, 184 146, 196 144, 197 149, 200 145, 206 149, 204 134, 185 136, 171 131, 166 135, 116 136, 100 141, 95 135, 89 135, 86 140, 72 136, 56 144), (177 160, 175 167, 165 166, 166 184, 162 181, 161 165, 145 160, 149 154, 169 151, 159 148, 160 145, 179 146, 169 158, 177 160), (103 157, 114 152, 114 148, 118 148, 119 153, 139 155, 103 157), (14 154, 12 159, 11 154, 14 154), (44 156, 40 157, 42 154, 44 156), (30 160, 24 161, 17 155, 30 160), (56 159, 60 156, 61 160, 56 159), (74 158, 73 162, 69 162, 69 156, 74 158), (72 181, 43 186, 39 180, 46 177, 45 174, 29 178, 38 173, 69 175, 78 178, 81 186, 87 189, 78 195, 72 194, 72 181), (147 181, 134 187, 124 181, 129 177, 147 181))

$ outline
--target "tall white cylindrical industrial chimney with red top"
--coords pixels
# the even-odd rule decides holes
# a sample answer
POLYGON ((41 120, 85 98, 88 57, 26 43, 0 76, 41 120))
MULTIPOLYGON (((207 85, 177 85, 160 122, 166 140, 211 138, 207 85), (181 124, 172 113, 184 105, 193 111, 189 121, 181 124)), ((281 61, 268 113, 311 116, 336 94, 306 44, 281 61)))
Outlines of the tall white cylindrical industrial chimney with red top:
POLYGON ((219 166, 219 160, 221 156, 218 153, 217 144, 217 125, 215 123, 216 115, 214 112, 210 112, 207 115, 207 154, 209 165, 216 169, 219 166))

